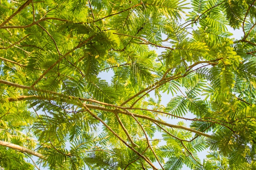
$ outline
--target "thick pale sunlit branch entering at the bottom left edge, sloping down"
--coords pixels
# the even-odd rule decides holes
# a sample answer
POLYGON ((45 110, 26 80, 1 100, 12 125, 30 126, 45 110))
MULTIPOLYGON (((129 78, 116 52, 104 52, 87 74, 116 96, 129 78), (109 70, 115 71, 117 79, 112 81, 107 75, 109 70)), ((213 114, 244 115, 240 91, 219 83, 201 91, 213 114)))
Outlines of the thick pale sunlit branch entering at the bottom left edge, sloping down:
POLYGON ((40 154, 38 152, 35 152, 33 150, 30 150, 30 149, 24 148, 22 146, 16 145, 16 144, 11 144, 9 142, 0 140, 0 145, 1 146, 6 146, 6 147, 14 149, 14 150, 18 150, 20 152, 26 152, 28 154, 34 155, 34 156, 36 156, 38 158, 41 158, 41 159, 46 159, 42 154, 40 154))

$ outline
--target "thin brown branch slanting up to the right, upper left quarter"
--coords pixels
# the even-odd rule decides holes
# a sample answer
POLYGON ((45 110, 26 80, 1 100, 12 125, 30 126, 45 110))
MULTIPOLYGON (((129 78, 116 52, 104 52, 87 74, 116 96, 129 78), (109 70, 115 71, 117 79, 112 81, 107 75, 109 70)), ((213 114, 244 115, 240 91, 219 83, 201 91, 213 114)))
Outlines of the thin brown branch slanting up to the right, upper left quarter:
POLYGON ((31 87, 34 87, 39 81, 40 79, 42 79, 54 66, 56 66, 56 64, 58 64, 59 62, 61 62, 61 60, 63 60, 63 58, 65 58, 67 55, 69 55, 70 53, 72 53, 74 50, 80 48, 81 46, 83 46, 86 42, 92 40, 92 38, 94 38, 95 35, 93 35, 92 37, 87 38, 86 40, 84 40, 83 42, 81 42, 80 44, 78 44, 76 47, 74 47, 72 50, 68 51, 67 53, 65 53, 62 57, 60 57, 54 64, 52 64, 52 66, 50 66, 32 85, 31 87))

